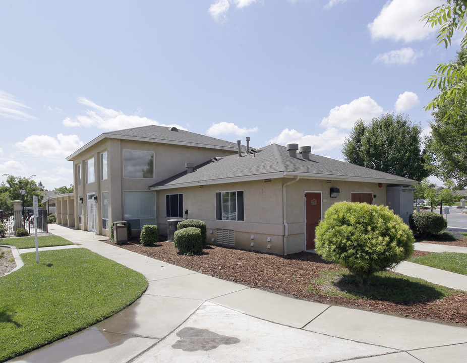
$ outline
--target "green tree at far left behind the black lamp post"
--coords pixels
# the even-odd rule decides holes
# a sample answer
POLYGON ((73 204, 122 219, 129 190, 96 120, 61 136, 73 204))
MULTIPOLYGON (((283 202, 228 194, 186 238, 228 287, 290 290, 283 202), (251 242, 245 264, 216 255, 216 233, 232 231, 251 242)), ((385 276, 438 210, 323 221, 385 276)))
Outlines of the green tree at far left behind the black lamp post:
MULTIPOLYGON (((36 175, 31 175, 29 177, 24 176, 15 176, 10 174, 3 174, 6 176, 6 181, 2 181, 0 184, 0 201, 3 210, 12 211, 14 200, 22 200, 20 193, 21 189, 25 189, 26 193, 24 194, 24 205, 32 206, 33 205, 33 196, 40 197, 42 192, 40 191, 37 183, 32 179, 36 175)), ((39 198, 40 201, 40 198, 39 198)))

